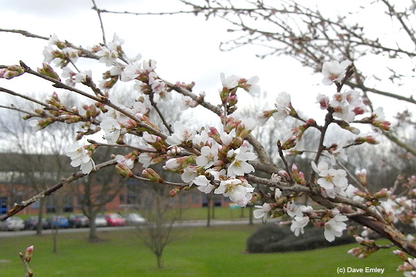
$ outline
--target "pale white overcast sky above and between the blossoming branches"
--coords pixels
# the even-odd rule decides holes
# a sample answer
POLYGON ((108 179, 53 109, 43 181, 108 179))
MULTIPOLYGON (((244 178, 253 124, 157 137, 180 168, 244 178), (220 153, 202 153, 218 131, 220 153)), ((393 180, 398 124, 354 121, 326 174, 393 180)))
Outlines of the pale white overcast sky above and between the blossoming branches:
MULTIPOLYGON (((174 0, 96 0, 96 3, 99 8, 107 10, 133 12, 189 10, 174 0)), ((334 6, 333 1, 329 0, 319 3, 324 11, 336 11, 346 5, 337 3, 334 6)), ((361 1, 349 1, 347 4, 354 7, 354 3, 358 5, 361 1)), ((89 0, 7 1, 0 10, 1 28, 24 29, 43 36, 56 33, 60 39, 67 39, 73 44, 92 46, 102 41, 102 33, 96 12, 91 7, 92 2, 89 0)), ((372 22, 374 19, 371 19, 370 30, 375 31, 374 35, 383 37, 383 32, 390 23, 387 22, 386 26, 380 28, 380 23, 374 25, 372 22)), ((229 25, 220 19, 205 21, 204 17, 194 15, 137 17, 103 14, 103 23, 107 41, 111 41, 113 33, 116 32, 125 39, 123 49, 130 57, 141 53, 144 60, 156 60, 156 72, 169 82, 195 81, 194 92, 205 91, 211 102, 219 102, 220 72, 244 78, 258 75, 261 90, 267 91, 269 95, 268 107, 272 108, 278 93, 287 91, 292 96, 293 106, 309 116, 322 114, 318 105, 313 104, 318 92, 330 96, 335 91, 334 87, 320 84, 322 75, 313 75, 311 69, 302 67, 289 57, 267 57, 260 60, 254 56, 267 51, 266 49, 246 46, 230 52, 219 51, 220 42, 226 41, 230 36, 226 32, 229 25)), ((17 64, 19 60, 23 60, 33 69, 42 64, 42 51, 47 45, 46 41, 19 34, 0 33, 0 42, 0 64, 17 64)), ((374 60, 367 60, 365 66, 374 67, 372 62, 374 60)), ((103 69, 93 70, 93 78, 98 82, 104 68, 97 67, 96 64, 81 62, 80 69, 103 69)), ((48 82, 37 79, 28 75, 12 80, 0 79, 0 86, 15 89, 19 93, 49 91, 50 94, 55 90, 48 82)), ((410 93, 414 91, 413 87, 410 93)), ((239 93, 239 99, 241 103, 252 101, 243 91, 239 93)), ((375 105, 386 105, 381 99, 385 100, 372 97, 375 105)), ((0 104, 3 104, 3 100, 4 96, 0 94, 0 104)), ((392 102, 391 99, 388 101, 392 102)), ((400 105, 407 107, 403 102, 400 105)), ((388 109, 385 110, 392 116, 397 109, 392 109, 390 114, 388 109)))

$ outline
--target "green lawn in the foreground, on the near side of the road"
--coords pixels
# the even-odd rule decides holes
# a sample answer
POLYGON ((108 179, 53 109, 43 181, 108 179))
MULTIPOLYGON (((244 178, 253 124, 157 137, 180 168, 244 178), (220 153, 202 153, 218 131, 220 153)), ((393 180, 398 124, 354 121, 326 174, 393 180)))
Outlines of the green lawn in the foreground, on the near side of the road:
POLYGON ((379 267, 383 274, 346 273, 343 276, 403 276, 401 262, 382 250, 359 260, 346 252, 352 245, 314 251, 247 254, 245 240, 256 226, 183 229, 164 253, 164 269, 156 269, 155 257, 137 231, 104 231, 103 242, 87 243, 87 233, 59 234, 53 255, 51 236, 0 239, 0 276, 24 276, 18 251, 34 244, 31 267, 34 276, 130 277, 130 276, 337 276, 337 267, 379 267))

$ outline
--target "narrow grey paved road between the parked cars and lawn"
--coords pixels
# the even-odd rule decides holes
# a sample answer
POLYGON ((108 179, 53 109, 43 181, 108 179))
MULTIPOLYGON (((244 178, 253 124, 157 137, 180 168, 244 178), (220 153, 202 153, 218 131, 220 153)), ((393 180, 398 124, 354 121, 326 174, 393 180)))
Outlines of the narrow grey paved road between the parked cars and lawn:
MULTIPOLYGON (((270 222, 273 220, 270 220, 270 222)), ((254 224, 261 223, 261 220, 254 220, 254 224)), ((211 226, 226 226, 226 225, 243 225, 248 224, 248 220, 211 220, 211 226)), ((187 220, 177 221, 173 224, 175 227, 204 227, 207 226, 207 220, 187 220)), ((135 229, 135 226, 123 226, 123 227, 99 227, 97 231, 117 231, 117 230, 131 230, 135 229)), ((87 233, 89 228, 70 228, 60 229, 59 233, 87 233)), ((0 231, 0 238, 19 237, 24 235, 35 235, 36 231, 0 231)), ((51 234, 52 230, 44 230, 42 233, 51 234)))

